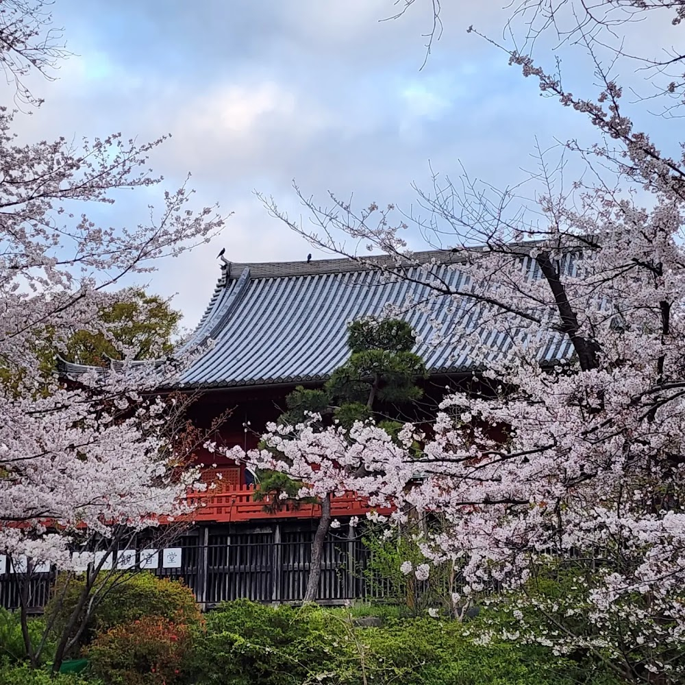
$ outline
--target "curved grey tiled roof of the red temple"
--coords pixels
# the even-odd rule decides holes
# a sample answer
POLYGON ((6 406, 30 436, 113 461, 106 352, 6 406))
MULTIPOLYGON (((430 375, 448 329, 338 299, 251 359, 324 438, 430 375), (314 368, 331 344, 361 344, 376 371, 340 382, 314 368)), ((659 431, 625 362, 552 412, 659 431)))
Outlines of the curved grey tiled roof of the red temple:
MULTIPOLYGON (((450 290, 464 286, 460 261, 452 253, 416 253, 416 262, 435 259, 434 275, 450 290)), ((390 258, 373 258, 377 266, 394 266, 390 258)), ((467 325, 477 314, 470 301, 440 296, 425 284, 425 271, 406 266, 408 279, 388 278, 369 264, 348 259, 312 262, 237 264, 225 262, 209 306, 190 344, 213 340, 182 375, 185 387, 228 388, 326 379, 347 359, 347 323, 379 316, 387 306, 403 308, 403 318, 425 342, 415 351, 430 373, 471 371, 478 366, 469 344, 436 344, 436 321, 445 328, 467 325), (416 282, 412 282, 412 279, 416 282), (410 301, 427 307, 407 306, 410 301)), ((536 275, 533 274, 533 277, 536 275)), ((438 329, 441 327, 438 325, 438 329)), ((508 337, 494 332, 482 347, 497 354, 508 337)), ((549 340, 543 360, 567 357, 568 340, 549 340)), ((77 374, 69 364, 67 373, 77 374)))

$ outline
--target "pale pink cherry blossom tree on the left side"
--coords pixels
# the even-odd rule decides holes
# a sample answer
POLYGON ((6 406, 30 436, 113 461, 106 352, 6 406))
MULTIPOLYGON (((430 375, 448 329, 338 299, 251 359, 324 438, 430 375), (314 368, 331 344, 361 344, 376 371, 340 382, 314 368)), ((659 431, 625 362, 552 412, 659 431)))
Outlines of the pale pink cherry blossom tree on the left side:
MULTIPOLYGON (((32 70, 49 75, 63 54, 49 3, 2 3, 0 63, 19 101, 40 103, 23 78, 32 70)), ((99 225, 88 207, 162 181, 148 156, 164 137, 20 144, 12 132, 17 116, 0 108, 0 364, 16 380, 0 388, 0 553, 15 566, 70 569, 74 543, 116 540, 188 510, 184 496, 195 473, 178 468, 185 453, 165 432, 175 425, 177 403, 154 391, 171 384, 193 352, 162 365, 127 358, 77 385, 56 371, 46 379, 40 362, 53 349, 66 351, 75 331, 111 340, 116 322, 99 314, 129 292, 113 288, 206 242, 224 220, 216 208, 194 210, 184 184, 164 191, 161 207, 139 225, 99 225)), ((56 668, 69 639, 60 641, 56 668)))

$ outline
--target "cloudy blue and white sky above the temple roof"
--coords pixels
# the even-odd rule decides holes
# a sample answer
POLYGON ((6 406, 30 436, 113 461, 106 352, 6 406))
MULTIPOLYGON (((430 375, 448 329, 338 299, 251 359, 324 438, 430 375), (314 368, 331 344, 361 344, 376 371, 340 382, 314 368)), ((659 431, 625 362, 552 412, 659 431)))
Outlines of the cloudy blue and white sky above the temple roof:
MULTIPOLYGON (((55 23, 74 55, 58 80, 34 86, 46 102, 22 119, 21 134, 172 134, 153 156, 166 187, 190 171, 198 205, 219 201, 234 212, 219 238, 161 263, 147 282, 151 291, 177 293, 175 306, 192 326, 219 275, 222 247, 239 262, 311 251, 266 214, 253 190, 292 216, 303 212, 292 179, 321 203, 332 190, 354 193, 359 206, 408 209, 410 184, 427 185, 429 162, 453 176, 463 165, 506 186, 532 166, 536 138, 546 147, 589 132, 580 115, 539 97, 506 55, 466 34, 473 24, 501 37, 508 12, 496 1, 443 2, 443 37, 420 71, 429 5, 419 0, 401 20, 381 22, 397 10, 394 0, 56 0, 55 23)), ((642 27, 640 38, 653 36, 642 27)), ((588 68, 582 56, 570 60, 564 77, 588 68)), ((143 219, 154 194, 134 195, 106 220, 143 219)))

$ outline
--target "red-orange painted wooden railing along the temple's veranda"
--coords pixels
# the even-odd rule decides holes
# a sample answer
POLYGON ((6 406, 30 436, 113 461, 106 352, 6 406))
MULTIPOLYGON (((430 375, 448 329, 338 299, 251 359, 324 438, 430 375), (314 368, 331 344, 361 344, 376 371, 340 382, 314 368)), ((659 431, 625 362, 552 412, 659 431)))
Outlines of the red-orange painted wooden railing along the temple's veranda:
MULTIPOLYGON (((262 501, 254 499, 255 488, 252 485, 234 486, 216 493, 216 490, 193 492, 188 495, 188 501, 195 510, 189 514, 192 521, 216 521, 218 523, 233 523, 236 521, 255 521, 264 519, 316 519, 321 516, 318 504, 279 503, 276 510, 271 512, 266 508, 273 505, 267 496, 262 501)), ((338 516, 364 516, 375 509, 367 501, 357 497, 354 493, 345 493, 342 497, 334 497, 331 503, 331 513, 338 516)), ((379 514, 389 514, 391 509, 378 508, 379 514)))

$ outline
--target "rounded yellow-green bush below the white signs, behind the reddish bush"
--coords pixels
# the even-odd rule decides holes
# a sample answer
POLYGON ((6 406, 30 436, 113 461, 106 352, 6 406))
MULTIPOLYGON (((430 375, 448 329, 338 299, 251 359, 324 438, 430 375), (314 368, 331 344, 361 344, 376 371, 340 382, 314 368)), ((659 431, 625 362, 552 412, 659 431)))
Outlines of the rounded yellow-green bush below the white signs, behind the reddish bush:
MULTIPOLYGON (((175 580, 158 578, 152 573, 100 574, 95 584, 95 597, 101 597, 84 631, 82 643, 89 643, 96 632, 130 623, 144 616, 162 616, 182 623, 197 623, 201 616, 190 588, 175 580)), ((45 607, 45 616, 55 615, 54 628, 65 629, 71 612, 84 590, 83 577, 63 573, 45 607)))

